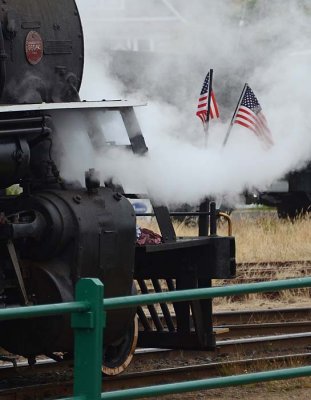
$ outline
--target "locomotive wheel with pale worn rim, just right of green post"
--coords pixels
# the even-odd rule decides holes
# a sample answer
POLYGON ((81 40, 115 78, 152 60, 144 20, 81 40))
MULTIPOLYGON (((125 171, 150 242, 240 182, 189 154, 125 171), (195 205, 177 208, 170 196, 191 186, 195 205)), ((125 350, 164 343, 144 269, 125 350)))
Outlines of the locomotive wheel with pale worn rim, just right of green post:
POLYGON ((138 318, 135 315, 125 336, 117 344, 104 348, 102 372, 113 376, 121 374, 132 361, 138 339, 138 318))

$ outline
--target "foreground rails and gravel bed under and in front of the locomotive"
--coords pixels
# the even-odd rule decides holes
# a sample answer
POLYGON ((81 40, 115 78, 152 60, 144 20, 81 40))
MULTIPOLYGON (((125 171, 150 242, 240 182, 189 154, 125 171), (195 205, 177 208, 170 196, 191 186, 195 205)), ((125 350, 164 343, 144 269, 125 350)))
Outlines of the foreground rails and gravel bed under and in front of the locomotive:
MULTIPOLYGON (((222 311, 215 312, 213 320, 216 331, 223 332, 217 336, 215 352, 138 349, 126 373, 104 378, 103 390, 254 371, 256 365, 273 369, 310 363, 311 307, 222 311), (243 359, 228 359, 237 354, 243 359)), ((0 376, 0 400, 52 399, 70 396, 72 391, 70 362, 40 360, 31 368, 25 362, 17 368, 6 363, 0 376)))

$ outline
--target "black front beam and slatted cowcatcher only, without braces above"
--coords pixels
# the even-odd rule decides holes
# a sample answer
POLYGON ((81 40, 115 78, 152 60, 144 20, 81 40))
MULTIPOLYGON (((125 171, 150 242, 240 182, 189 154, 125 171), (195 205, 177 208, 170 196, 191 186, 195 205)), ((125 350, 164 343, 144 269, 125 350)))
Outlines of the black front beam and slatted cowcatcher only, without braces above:
MULTIPOLYGON (((176 238, 175 241, 169 240, 159 245, 137 246, 134 277, 142 293, 148 293, 148 286, 156 292, 210 287, 213 278, 231 278, 235 275, 234 254, 232 237, 176 238)), ((172 307, 167 304, 159 306, 164 323, 155 306, 148 306, 152 323, 146 316, 147 310, 138 308, 142 325, 139 346, 214 348, 212 300, 173 303, 172 307), (173 311, 176 323, 171 316, 173 311)))

